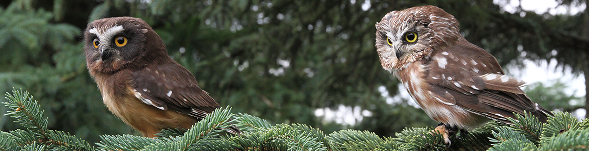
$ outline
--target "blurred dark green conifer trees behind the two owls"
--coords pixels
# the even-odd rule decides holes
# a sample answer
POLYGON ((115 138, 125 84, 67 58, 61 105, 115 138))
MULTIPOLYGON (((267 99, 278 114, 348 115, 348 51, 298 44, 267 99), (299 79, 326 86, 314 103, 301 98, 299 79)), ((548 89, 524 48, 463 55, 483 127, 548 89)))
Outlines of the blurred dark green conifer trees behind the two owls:
MULTIPOLYGON (((587 9, 573 15, 521 8, 510 13, 490 0, 15 0, 0 2, 0 90, 22 87, 42 98, 39 103, 55 119, 49 129, 88 142, 97 142, 100 134, 137 133, 102 104, 80 41, 94 19, 140 17, 221 106, 273 123, 309 124, 325 133, 357 129, 393 136, 405 127, 436 122, 411 100, 395 97, 405 90, 380 67, 374 24, 390 11, 419 5, 453 14, 466 39, 502 65, 521 64, 522 58, 556 59, 575 74, 589 72, 587 9), (353 109, 355 124, 316 116, 341 106, 353 109)), ((562 93, 562 87, 535 84, 527 91, 548 109, 583 106, 571 107, 570 100, 579 99, 562 93)), ((0 129, 19 128, 7 118, 0 117, 0 129)))

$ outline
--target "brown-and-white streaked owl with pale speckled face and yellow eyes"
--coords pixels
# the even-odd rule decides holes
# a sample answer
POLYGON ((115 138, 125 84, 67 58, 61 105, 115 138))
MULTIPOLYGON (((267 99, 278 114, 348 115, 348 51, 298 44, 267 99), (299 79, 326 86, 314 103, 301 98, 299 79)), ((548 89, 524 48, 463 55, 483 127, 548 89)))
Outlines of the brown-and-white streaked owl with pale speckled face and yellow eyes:
POLYGON ((454 16, 436 6, 392 11, 376 23, 376 51, 450 143, 448 134, 474 129, 489 119, 512 124, 513 113, 546 122, 552 113, 505 76, 491 54, 466 41, 454 16))

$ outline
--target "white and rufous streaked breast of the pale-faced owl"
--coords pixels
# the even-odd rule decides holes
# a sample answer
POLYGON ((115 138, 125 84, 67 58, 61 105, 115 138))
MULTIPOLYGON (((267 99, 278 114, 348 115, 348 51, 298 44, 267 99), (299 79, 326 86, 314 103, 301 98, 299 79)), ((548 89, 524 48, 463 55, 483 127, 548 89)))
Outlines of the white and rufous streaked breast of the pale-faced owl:
POLYGON ((431 119, 461 128, 478 126, 480 124, 478 117, 480 116, 470 113, 456 104, 448 104, 438 100, 442 97, 432 92, 434 85, 426 78, 428 76, 427 70, 426 61, 420 60, 409 64, 403 70, 395 71, 395 76, 399 78, 411 97, 431 119))

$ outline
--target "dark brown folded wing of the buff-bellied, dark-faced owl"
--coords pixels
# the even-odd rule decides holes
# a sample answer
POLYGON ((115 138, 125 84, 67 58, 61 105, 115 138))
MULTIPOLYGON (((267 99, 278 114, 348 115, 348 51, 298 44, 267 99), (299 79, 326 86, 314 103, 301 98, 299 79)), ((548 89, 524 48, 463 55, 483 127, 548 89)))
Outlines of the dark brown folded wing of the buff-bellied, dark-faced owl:
POLYGON ((135 97, 158 109, 204 119, 220 107, 209 93, 198 87, 196 78, 176 62, 148 66, 134 71, 131 77, 135 97))

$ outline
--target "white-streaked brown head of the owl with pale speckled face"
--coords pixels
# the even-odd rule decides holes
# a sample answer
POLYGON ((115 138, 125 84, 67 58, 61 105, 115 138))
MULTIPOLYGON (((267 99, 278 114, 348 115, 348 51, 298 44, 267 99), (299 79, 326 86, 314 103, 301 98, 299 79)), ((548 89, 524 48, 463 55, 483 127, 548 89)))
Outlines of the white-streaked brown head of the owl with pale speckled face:
POLYGON ((413 61, 453 45, 462 37, 458 21, 436 6, 392 11, 376 23, 376 51, 385 70, 403 70, 413 61))

